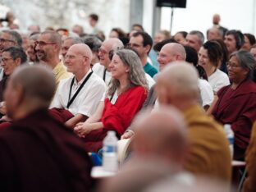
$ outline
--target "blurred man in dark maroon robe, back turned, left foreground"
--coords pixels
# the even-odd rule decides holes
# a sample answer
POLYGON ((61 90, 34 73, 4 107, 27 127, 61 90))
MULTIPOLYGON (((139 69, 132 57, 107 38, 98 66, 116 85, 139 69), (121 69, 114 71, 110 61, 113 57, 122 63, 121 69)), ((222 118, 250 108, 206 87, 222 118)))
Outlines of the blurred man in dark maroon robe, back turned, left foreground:
POLYGON ((0 131, 0 191, 91 189, 83 143, 48 115, 54 90, 45 66, 21 66, 11 75, 4 98, 13 123, 0 131))

